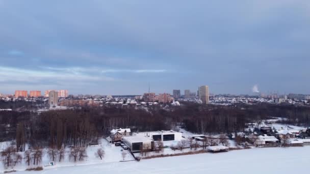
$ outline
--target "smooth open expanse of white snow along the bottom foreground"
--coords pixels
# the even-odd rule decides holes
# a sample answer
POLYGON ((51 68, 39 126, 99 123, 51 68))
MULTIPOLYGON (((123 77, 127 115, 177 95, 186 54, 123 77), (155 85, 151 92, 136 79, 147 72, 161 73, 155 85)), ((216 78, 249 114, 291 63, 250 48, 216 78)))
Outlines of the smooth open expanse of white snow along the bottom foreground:
POLYGON ((254 148, 227 153, 206 153, 154 158, 140 162, 111 162, 85 166, 20 171, 18 173, 308 173, 310 146, 254 148))

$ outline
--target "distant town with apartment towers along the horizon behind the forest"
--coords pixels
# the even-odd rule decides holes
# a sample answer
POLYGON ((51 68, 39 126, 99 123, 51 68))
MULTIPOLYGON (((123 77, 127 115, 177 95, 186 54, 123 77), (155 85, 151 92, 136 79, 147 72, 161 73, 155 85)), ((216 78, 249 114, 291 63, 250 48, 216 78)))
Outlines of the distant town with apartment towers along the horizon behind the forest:
MULTIPOLYGON (((184 102, 193 102, 197 104, 214 104, 214 105, 233 105, 238 103, 257 104, 293 104, 293 105, 310 105, 310 95, 288 94, 279 95, 277 93, 262 94, 253 92, 252 95, 230 95, 230 94, 210 94, 209 86, 199 86, 197 92, 190 90, 173 90, 172 94, 156 94, 152 92, 143 95, 126 95, 126 96, 102 96, 102 95, 70 95, 68 90, 46 90, 44 95, 41 91, 18 91, 14 94, 0 94, 1 101, 25 101, 41 102, 40 109, 45 110, 62 110, 72 107, 83 106, 103 106, 103 105, 128 105, 143 107, 151 105, 160 106, 180 106, 184 102), (48 104, 48 105, 47 105, 48 104)), ((0 108, 10 109, 10 108, 0 108)))

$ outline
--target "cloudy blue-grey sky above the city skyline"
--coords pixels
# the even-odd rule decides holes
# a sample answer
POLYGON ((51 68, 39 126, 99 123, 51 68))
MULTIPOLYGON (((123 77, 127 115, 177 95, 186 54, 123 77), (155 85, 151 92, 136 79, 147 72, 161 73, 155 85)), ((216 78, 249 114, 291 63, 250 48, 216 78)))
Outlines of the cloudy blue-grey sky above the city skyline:
POLYGON ((310 94, 309 70, 308 0, 0 0, 3 94, 310 94))

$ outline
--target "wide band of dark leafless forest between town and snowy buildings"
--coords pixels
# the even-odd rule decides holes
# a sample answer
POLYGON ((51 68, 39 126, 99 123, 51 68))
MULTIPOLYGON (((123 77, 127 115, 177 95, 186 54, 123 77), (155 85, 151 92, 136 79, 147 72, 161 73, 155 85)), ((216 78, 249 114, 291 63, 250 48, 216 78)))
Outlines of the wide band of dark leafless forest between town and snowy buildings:
POLYGON ((88 107, 46 112, 0 111, 0 141, 16 142, 17 151, 31 147, 87 147, 109 136, 113 128, 132 131, 170 130, 177 127, 195 133, 233 133, 246 123, 260 123, 271 117, 286 118, 282 123, 310 126, 310 107, 294 105, 200 105, 88 107))

